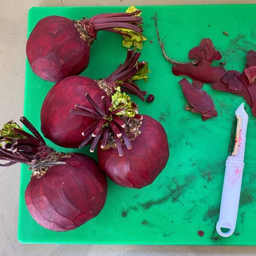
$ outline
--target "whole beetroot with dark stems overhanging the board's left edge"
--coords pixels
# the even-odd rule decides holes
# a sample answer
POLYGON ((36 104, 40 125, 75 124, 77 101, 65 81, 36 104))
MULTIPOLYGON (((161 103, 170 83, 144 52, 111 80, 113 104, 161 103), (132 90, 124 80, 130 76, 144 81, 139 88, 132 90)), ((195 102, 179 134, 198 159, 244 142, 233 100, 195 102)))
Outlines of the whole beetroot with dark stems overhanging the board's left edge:
POLYGON ((98 215, 107 196, 107 180, 98 164, 83 154, 54 151, 25 117, 20 120, 35 137, 12 121, 5 124, 0 160, 9 162, 0 166, 29 165, 25 201, 35 221, 46 229, 67 231, 98 215))

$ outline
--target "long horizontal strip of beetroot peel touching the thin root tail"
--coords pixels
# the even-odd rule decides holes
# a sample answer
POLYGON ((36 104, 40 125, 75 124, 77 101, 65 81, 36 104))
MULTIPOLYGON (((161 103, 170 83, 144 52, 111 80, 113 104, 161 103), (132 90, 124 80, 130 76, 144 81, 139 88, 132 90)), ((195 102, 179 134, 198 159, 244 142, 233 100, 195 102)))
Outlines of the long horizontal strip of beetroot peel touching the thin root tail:
POLYGON ((212 84, 214 82, 219 82, 220 79, 226 75, 227 71, 223 67, 192 66, 184 64, 173 66, 172 73, 175 76, 189 76, 194 80, 212 84))

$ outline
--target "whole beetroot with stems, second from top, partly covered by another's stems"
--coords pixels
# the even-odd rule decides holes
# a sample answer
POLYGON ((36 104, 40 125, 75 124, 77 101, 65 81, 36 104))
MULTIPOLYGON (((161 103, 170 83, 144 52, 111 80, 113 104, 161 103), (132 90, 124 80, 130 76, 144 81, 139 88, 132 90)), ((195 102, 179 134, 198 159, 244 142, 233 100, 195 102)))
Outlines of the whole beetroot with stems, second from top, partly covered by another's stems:
POLYGON ((123 91, 136 94, 145 100, 145 91, 133 81, 147 81, 148 63, 138 62, 140 53, 127 50, 127 58, 108 78, 93 80, 83 76, 70 76, 55 84, 48 92, 41 108, 41 131, 55 144, 66 148, 78 148, 84 140, 82 132, 91 126, 95 128, 94 112, 89 116, 78 116, 69 111, 77 105, 90 107, 85 98, 89 93, 97 105, 102 107, 102 96, 110 96, 115 87, 120 85, 123 91))

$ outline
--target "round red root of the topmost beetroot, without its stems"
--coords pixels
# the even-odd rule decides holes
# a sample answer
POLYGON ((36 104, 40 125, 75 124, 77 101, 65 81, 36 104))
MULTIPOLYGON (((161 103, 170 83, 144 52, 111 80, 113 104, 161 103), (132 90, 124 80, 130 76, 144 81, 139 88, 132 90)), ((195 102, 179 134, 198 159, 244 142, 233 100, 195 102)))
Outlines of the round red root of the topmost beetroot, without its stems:
POLYGON ((38 21, 27 40, 26 53, 31 69, 52 82, 80 74, 90 60, 90 47, 74 21, 61 16, 38 21))

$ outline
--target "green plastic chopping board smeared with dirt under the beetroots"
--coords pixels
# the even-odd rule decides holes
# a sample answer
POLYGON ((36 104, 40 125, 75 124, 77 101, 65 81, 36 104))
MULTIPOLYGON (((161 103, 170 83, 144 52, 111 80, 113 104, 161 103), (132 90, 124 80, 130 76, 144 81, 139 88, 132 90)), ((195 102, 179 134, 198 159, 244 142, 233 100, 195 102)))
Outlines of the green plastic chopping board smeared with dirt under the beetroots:
MULTIPOLYGON (((104 12, 122 12, 126 7, 38 7, 29 10, 28 35, 35 24, 48 15, 78 20, 104 12)), ((205 122, 198 114, 184 110, 186 100, 172 75, 157 42, 154 20, 158 16, 160 36, 165 35, 166 51, 180 61, 198 46, 202 38, 211 38, 222 54, 226 69, 242 71, 248 50, 256 50, 256 5, 141 6, 144 34, 140 60, 148 61, 151 73, 145 84, 137 84, 155 96, 153 103, 136 96, 140 113, 148 114, 164 126, 169 140, 170 158, 154 183, 143 189, 128 189, 108 180, 106 204, 96 218, 76 230, 53 232, 39 226, 29 215, 24 191, 30 180, 27 166, 21 166, 18 240, 23 243, 75 244, 169 244, 169 245, 256 245, 256 118, 249 115, 245 168, 235 233, 229 238, 215 231, 221 200, 225 161, 232 120, 244 101, 234 94, 214 91, 205 84, 218 117, 205 122), (224 35, 223 32, 229 35, 224 35), (203 236, 198 231, 204 232, 203 236)), ((91 47, 90 64, 81 75, 93 79, 107 77, 125 60, 126 49, 120 35, 100 31, 91 47)), ((218 66, 218 62, 213 65, 218 66)), ((40 108, 54 83, 36 76, 26 62, 24 115, 40 130, 40 108)), ((96 159, 88 147, 83 152, 96 159)), ((158 152, 155 152, 158 154, 158 152)))

